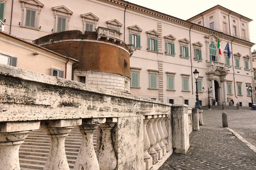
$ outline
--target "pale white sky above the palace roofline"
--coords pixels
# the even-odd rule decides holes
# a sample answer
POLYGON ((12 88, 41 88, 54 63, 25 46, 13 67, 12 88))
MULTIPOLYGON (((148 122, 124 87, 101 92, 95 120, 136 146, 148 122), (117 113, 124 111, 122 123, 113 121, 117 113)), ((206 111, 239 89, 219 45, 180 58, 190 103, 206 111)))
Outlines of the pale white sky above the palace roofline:
MULTIPOLYGON (((256 0, 128 0, 155 11, 187 20, 215 5, 221 5, 240 15, 252 19, 249 23, 250 41, 256 43, 256 0)), ((252 46, 256 49, 256 45, 252 46)))

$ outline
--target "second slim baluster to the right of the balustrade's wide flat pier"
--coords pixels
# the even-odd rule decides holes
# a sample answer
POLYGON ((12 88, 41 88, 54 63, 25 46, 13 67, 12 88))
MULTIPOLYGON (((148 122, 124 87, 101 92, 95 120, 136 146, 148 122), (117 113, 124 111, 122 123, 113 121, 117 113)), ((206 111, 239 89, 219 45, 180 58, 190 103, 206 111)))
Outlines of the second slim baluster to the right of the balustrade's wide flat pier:
POLYGON ((147 134, 150 141, 150 147, 148 149, 148 153, 152 157, 153 165, 155 165, 158 160, 158 155, 156 153, 156 150, 154 149, 154 145, 156 144, 156 137, 153 131, 153 122, 155 118, 156 118, 156 115, 146 116, 146 119, 149 119, 147 124, 147 134))

